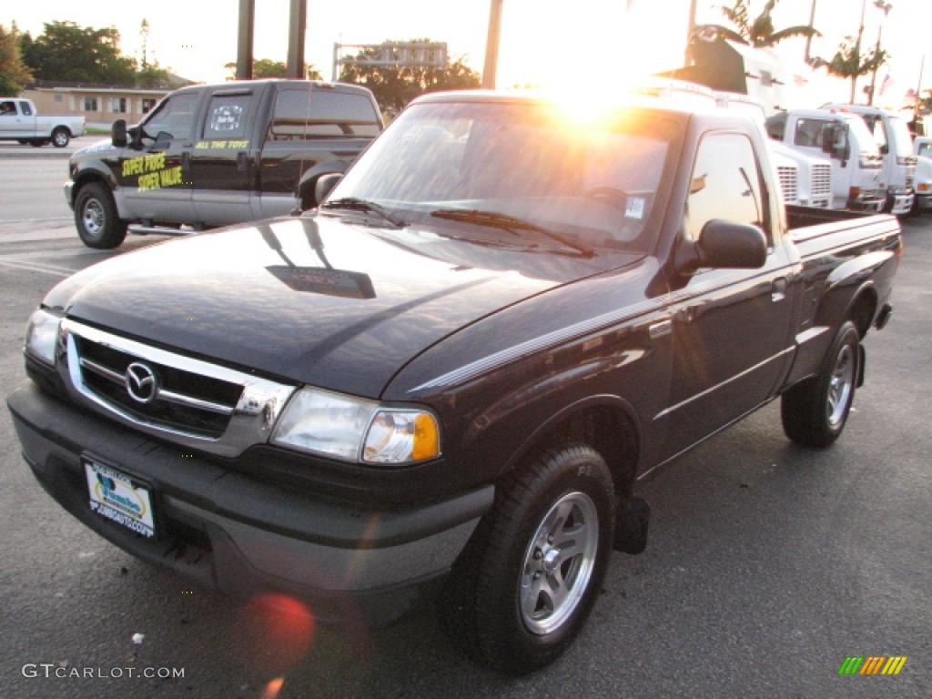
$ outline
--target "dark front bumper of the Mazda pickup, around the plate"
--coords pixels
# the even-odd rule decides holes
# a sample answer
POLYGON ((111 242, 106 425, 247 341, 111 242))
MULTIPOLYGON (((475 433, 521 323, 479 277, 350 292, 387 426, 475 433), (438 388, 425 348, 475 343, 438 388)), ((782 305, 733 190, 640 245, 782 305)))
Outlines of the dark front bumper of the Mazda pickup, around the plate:
POLYGON ((185 455, 79 412, 29 383, 7 405, 23 456, 48 494, 132 555, 235 595, 307 598, 319 618, 352 605, 404 611, 445 574, 491 506, 494 487, 404 510, 366 510, 296 493, 185 455), (158 539, 91 513, 82 455, 151 486, 158 539))

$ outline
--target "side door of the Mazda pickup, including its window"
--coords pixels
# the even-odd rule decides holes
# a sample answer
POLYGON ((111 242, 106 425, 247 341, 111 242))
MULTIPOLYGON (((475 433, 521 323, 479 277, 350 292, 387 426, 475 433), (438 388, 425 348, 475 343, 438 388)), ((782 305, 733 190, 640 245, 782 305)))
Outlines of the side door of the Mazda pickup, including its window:
MULTIPOLYGON (((743 133, 706 134, 692 171, 681 235, 700 240, 714 218, 759 226, 768 239, 760 269, 700 269, 674 294, 674 363, 661 414, 667 456, 764 403, 792 358, 794 261, 743 133)), ((775 185, 774 185, 775 186, 775 185)))

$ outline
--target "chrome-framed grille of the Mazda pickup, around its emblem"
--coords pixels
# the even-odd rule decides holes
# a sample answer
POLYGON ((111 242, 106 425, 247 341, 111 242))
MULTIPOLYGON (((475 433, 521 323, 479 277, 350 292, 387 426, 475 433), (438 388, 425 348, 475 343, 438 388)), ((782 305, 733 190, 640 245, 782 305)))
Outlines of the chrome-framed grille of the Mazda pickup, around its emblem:
POLYGON ((142 432, 235 457, 267 442, 294 386, 66 319, 59 371, 75 398, 142 432), (145 395, 130 368, 147 373, 145 395), (135 393, 132 391, 136 391, 135 393))

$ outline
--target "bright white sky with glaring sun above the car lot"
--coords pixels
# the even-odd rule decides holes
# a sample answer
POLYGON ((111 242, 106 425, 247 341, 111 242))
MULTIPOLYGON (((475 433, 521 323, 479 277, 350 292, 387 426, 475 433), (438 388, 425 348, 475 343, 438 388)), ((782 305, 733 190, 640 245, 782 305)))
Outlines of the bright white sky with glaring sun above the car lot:
MULTIPOLYGON (((926 46, 924 86, 932 87, 932 45, 925 41, 932 24, 930 0, 890 0, 884 13, 866 0, 863 45, 873 46, 883 22, 884 47, 893 55, 878 82, 886 80, 881 101, 898 106, 915 89, 926 46)), ((750 0, 756 15, 764 0, 750 0)), ((780 0, 777 29, 807 24, 813 0, 780 0)), ((726 3, 726 4, 731 4, 726 3)), ((699 23, 726 23, 721 3, 697 0, 699 23)), ((284 61, 288 48, 288 0, 255 0, 254 57, 284 61)), ((611 81, 628 73, 649 73, 683 62, 690 0, 504 0, 499 88, 535 84, 611 81)), ((813 43, 816 55, 830 58, 846 34, 857 34, 862 0, 816 0, 815 26, 824 36, 813 43)), ((216 82, 223 67, 236 60, 238 0, 160 0, 120 3, 109 0, 34 0, 7 3, 0 23, 16 21, 21 31, 42 32, 45 21, 75 21, 81 26, 116 26, 124 53, 139 58, 139 26, 150 25, 149 59, 187 78, 216 82)), ((462 57, 481 72, 489 0, 308 0, 306 58, 331 77, 334 44, 380 43, 431 38, 445 41, 452 58, 462 57)), ((802 62, 804 41, 781 44, 789 64, 802 62)), ((824 71, 823 71, 824 73, 824 71)), ((847 83, 818 80, 825 100, 846 100, 847 83)), ((814 83, 815 84, 815 83, 814 83)))

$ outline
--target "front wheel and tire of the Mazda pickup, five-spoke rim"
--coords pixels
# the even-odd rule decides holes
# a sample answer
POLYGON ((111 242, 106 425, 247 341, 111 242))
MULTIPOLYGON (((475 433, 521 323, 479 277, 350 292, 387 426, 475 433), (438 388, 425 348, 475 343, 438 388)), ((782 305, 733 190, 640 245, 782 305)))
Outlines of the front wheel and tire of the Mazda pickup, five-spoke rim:
POLYGON ((551 448, 507 476, 446 583, 445 631, 509 674, 555 661, 601 590, 613 502, 609 468, 587 445, 551 448))

